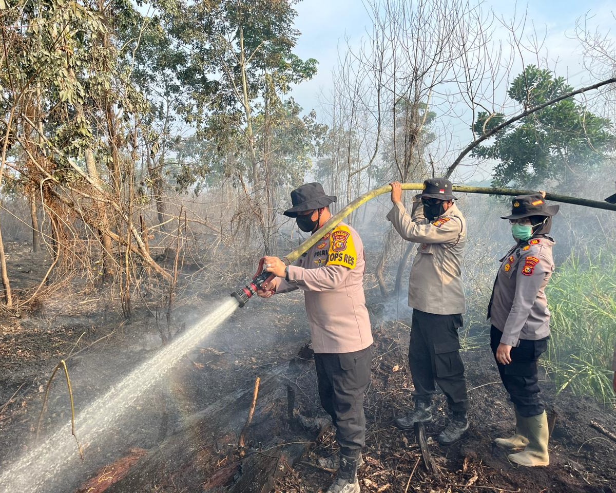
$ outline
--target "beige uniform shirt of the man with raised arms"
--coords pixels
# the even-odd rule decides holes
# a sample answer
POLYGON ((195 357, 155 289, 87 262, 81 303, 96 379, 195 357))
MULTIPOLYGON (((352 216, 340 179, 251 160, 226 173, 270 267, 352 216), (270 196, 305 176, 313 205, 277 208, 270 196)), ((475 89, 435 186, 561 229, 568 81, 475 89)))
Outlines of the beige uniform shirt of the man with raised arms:
POLYGON ((464 313, 461 264, 466 221, 458 206, 453 204, 430 221, 421 203, 413 203, 411 214, 397 203, 387 219, 402 238, 419 243, 408 279, 408 306, 437 315, 464 313))

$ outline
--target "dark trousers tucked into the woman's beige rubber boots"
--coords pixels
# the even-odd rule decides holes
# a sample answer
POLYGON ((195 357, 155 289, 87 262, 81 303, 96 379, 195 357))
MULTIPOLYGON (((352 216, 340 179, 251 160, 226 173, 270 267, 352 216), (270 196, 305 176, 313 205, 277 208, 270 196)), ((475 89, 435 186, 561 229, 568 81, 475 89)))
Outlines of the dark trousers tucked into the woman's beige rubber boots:
MULTIPOLYGON (((490 346, 496 360, 496 349, 503 333, 492 325, 490 346)), ((517 412, 525 418, 543 414, 545 407, 539 399, 541 389, 537 378, 537 360, 548 349, 548 339, 529 341, 521 339, 517 348, 511 348, 511 363, 503 365, 496 361, 498 373, 517 412)))

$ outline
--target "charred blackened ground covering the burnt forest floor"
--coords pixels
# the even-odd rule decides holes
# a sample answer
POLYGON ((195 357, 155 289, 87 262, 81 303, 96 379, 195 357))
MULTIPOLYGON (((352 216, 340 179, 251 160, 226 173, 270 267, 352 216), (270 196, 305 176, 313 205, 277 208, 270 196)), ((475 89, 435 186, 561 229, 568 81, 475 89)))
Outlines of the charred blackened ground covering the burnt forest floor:
MULTIPOLYGON (((14 278, 17 291, 41 278, 47 259, 32 256, 20 245, 7 250, 9 269, 20 273, 14 278)), ((237 282, 230 281, 232 285, 237 282)), ((174 306, 171 335, 193 324, 219 299, 220 293, 206 283, 192 284, 193 290, 182 293, 174 306)), ((369 280, 369 288, 370 284, 374 285, 369 280)), ((367 464, 360 471, 363 492, 616 491, 616 442, 590 426, 593 420, 616 432, 614 409, 567 391, 557 393, 548 381, 541 384, 542 396, 557 413, 549 467, 517 468, 501 450, 493 449, 495 436, 513 430, 513 408, 498 381, 487 335, 480 333, 468 339, 469 347, 463 352, 471 428, 457 444, 440 447, 434 439, 445 425, 445 410, 444 397, 437 396, 436 422, 426 432, 438 473, 428 474, 413 432, 392 426, 395 415, 411 405, 408 328, 402 322, 383 319, 382 300, 373 291, 368 291, 368 304, 376 342, 373 381, 365 401, 368 433, 367 464)), ((320 417, 322 411, 310 362, 304 361, 292 377, 287 376, 291 373, 285 362, 293 360, 306 343, 307 325, 301 294, 281 298, 251 301, 238 310, 221 330, 198 344, 163 385, 137 402, 134 416, 113 430, 115 441, 110 440, 94 457, 90 454, 86 474, 50 493, 258 491, 253 488, 259 479, 249 468, 251 460, 267 459, 274 450, 290 449, 292 444, 296 444, 297 460, 285 463, 275 486, 267 491, 325 491, 333 475, 315 467, 315 460, 331 454, 333 433, 328 429, 317 438, 317 431, 307 431, 287 416, 288 383, 296 389, 296 409, 303 415, 320 417), (242 461, 238 430, 246 420, 256 376, 265 383, 242 461), (108 489, 79 489, 87 479, 100 485, 100 470, 110 465, 123 470, 116 484, 108 489)), ((161 315, 164 303, 159 304, 161 315)), ((156 354, 164 316, 156 319, 152 303, 148 309, 137 301, 134 306, 132 318, 124 320, 108 288, 73 284, 49 293, 39 306, 20 312, 19 317, 0 314, 0 469, 33 446, 43 388, 60 359, 81 351, 67 360, 79 411, 139 362, 156 354)), ((56 378, 43 419, 44 431, 70 419, 65 382, 62 375, 56 378)))

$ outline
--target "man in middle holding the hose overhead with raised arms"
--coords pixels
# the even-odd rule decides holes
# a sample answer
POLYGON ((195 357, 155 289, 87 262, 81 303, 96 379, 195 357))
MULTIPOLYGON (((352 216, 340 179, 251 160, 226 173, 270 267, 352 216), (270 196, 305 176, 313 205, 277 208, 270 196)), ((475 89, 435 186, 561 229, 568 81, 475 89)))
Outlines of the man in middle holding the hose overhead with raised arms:
POLYGON ((408 367, 415 386, 415 409, 395 423, 407 430, 415 422, 431 422, 436 382, 450 410, 449 423, 438 440, 452 444, 468 430, 468 396, 458 338, 464 312, 460 276, 466 221, 453 203, 456 198, 447 179, 424 181, 410 214, 402 204, 400 183, 393 182, 391 187, 394 206, 387 219, 402 238, 419 243, 408 283, 408 306, 413 308, 408 367))

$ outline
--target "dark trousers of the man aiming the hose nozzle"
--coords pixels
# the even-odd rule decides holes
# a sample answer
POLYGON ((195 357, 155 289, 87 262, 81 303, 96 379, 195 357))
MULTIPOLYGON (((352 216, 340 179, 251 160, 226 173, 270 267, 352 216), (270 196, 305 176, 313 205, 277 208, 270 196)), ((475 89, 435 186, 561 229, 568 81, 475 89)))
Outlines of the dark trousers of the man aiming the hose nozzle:
POLYGON ((365 444, 363 393, 370 384, 372 346, 342 353, 315 352, 318 396, 336 426, 343 455, 354 455, 365 444))

